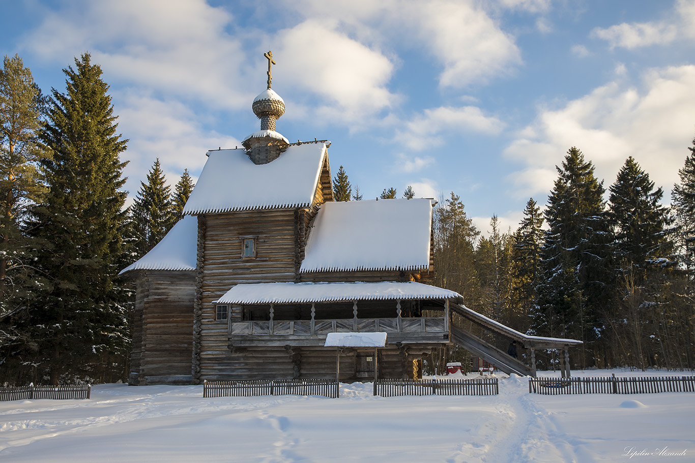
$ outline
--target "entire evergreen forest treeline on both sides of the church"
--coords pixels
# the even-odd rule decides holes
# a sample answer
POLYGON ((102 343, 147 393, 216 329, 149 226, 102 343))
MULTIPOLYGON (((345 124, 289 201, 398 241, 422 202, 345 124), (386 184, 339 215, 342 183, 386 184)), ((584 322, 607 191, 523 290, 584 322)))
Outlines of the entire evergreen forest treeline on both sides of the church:
MULTIPOLYGON (((101 68, 84 53, 63 72, 65 90, 43 94, 19 56, 0 70, 0 384, 126 378, 134 288, 118 273, 193 190, 184 171, 171 191, 156 160, 126 207, 128 140, 101 68)), ((606 192, 575 148, 545 212, 530 199, 517 230, 493 217, 482 237, 459 196, 441 198, 435 284, 521 332, 581 339, 580 367, 692 368, 695 140, 689 150, 670 207, 632 158, 606 192)), ((342 166, 333 186, 362 198, 342 166)), ((552 367, 553 353, 540 360, 552 367)))

